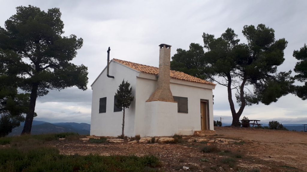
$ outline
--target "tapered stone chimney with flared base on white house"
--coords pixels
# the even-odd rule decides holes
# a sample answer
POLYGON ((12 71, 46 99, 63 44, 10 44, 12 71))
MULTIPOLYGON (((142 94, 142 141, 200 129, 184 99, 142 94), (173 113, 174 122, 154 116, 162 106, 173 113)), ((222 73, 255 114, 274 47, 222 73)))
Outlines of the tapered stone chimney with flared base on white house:
POLYGON ((171 46, 167 44, 160 44, 159 47, 160 55, 157 89, 147 101, 174 101, 171 89, 169 88, 171 46))

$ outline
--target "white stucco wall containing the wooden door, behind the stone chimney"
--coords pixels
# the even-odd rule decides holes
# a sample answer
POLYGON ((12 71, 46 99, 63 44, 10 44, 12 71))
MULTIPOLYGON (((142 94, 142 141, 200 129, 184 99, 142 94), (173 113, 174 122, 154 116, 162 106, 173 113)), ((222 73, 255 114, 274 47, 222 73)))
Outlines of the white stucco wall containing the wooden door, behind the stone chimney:
MULTIPOLYGON (((142 73, 141 73, 142 74, 142 73)), ((146 121, 145 103, 149 96, 156 89, 156 76, 152 74, 142 74, 136 79, 136 115, 135 115, 135 134, 146 136, 148 125, 146 121)), ((201 130, 200 121, 200 99, 209 100, 210 130, 213 130, 213 85, 195 83, 194 86, 188 81, 171 79, 170 88, 173 96, 188 97, 188 113, 177 113, 177 130, 183 135, 192 135, 193 131, 201 130), (206 88, 201 88, 206 87, 206 88)))

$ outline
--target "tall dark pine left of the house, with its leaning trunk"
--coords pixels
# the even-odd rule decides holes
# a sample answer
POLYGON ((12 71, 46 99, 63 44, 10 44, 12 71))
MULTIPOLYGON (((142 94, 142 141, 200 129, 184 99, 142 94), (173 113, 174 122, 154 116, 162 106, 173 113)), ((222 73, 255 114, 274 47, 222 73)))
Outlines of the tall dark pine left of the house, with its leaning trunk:
POLYGON ((18 85, 30 93, 29 113, 22 133, 30 133, 37 96, 48 89, 64 89, 76 86, 87 89, 87 67, 74 65, 76 50, 83 39, 75 35, 61 36, 64 23, 59 8, 41 11, 34 6, 19 6, 17 13, 0 28, 0 48, 12 50, 11 64, 20 70, 18 85))

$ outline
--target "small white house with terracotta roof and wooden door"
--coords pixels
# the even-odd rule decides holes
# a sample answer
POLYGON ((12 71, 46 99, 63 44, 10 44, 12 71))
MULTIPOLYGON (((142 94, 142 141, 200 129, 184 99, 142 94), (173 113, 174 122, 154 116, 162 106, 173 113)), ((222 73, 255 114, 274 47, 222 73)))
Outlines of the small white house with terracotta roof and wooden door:
MULTIPOLYGON (((170 47, 160 45, 160 68, 164 65, 161 59, 168 58, 170 61, 170 47)), ((106 69, 91 85, 91 135, 121 135, 122 110, 115 106, 114 96, 123 79, 132 86, 134 96, 134 101, 125 111, 126 136, 192 135, 195 131, 214 129, 212 89, 216 84, 182 72, 169 71, 168 64, 170 74, 166 78, 169 78, 170 94, 174 99, 149 100, 157 88, 159 68, 112 59, 108 74, 114 78, 107 77, 106 69)))

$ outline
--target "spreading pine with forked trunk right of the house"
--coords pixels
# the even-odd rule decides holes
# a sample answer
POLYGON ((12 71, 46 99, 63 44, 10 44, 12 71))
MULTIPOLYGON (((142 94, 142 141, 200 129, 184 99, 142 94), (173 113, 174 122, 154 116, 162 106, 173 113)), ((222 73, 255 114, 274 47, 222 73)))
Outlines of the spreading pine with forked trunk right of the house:
POLYGON ((171 62, 173 70, 227 87, 234 126, 239 126, 245 106, 260 102, 268 105, 293 91, 291 71, 277 72, 277 66, 285 60, 287 41, 284 38, 275 40, 274 30, 264 24, 245 25, 242 33, 247 44, 239 43, 238 35, 231 28, 219 38, 204 33, 204 47, 191 43, 187 51, 177 49, 171 62), (238 111, 232 90, 236 91, 238 111))

